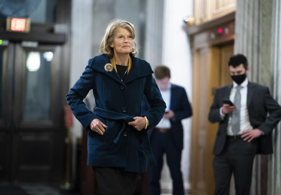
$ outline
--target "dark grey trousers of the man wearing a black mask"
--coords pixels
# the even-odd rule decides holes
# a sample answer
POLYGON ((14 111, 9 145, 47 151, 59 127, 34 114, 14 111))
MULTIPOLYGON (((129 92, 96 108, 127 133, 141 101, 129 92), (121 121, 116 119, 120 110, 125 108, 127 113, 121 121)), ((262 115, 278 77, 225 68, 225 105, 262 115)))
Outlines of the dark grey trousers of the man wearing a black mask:
POLYGON ((227 137, 222 154, 216 155, 213 160, 215 195, 229 194, 232 173, 234 174, 236 195, 250 194, 256 150, 256 139, 248 143, 241 138, 227 137))

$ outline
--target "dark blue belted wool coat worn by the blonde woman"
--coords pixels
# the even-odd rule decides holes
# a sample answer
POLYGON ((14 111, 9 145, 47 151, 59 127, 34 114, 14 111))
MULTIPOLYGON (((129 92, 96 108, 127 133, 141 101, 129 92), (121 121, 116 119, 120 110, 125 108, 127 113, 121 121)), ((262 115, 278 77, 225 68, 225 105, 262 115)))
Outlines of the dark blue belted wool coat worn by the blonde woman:
POLYGON ((114 69, 112 72, 105 70, 104 65, 111 62, 103 54, 88 61, 82 76, 66 95, 73 115, 88 131, 88 165, 143 172, 147 168, 147 159, 150 166, 156 164, 147 131, 137 131, 127 122, 142 116, 143 94, 150 105, 150 110, 143 114, 148 118, 150 128, 162 119, 166 104, 152 77, 150 64, 130 56, 132 66, 124 82, 114 69), (94 112, 83 102, 90 89, 95 96, 94 112), (107 125, 102 136, 90 129, 90 122, 95 118, 107 125))

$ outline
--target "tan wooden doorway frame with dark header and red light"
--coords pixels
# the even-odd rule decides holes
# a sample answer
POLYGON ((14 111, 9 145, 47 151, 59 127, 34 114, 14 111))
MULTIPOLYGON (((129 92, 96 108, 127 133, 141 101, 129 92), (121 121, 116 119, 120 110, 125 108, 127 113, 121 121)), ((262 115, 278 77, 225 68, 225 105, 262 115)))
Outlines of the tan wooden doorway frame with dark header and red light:
MULTIPOLYGON (((224 17, 192 26, 187 28, 187 33, 191 40, 191 51, 193 53, 193 108, 197 110, 201 108, 201 102, 199 95, 200 92, 197 89, 201 88, 201 85, 205 85, 206 91, 204 92, 205 105, 208 108, 204 108, 204 111, 200 109, 193 114, 192 132, 191 132, 191 194, 193 195, 209 195, 214 191, 213 178, 213 142, 216 136, 216 130, 218 124, 210 124, 208 122, 208 111, 210 105, 213 102, 214 89, 219 87, 220 79, 220 67, 217 66, 217 59, 220 58, 220 48, 218 45, 229 44, 234 41, 234 20, 235 12, 225 15, 224 17), (218 29, 222 28, 224 31, 222 34, 218 34, 218 29), (227 32, 227 33, 225 33, 227 32), (196 65, 200 64, 200 56, 198 52, 205 50, 206 62, 204 64, 204 71, 200 71, 200 67, 196 65), (199 57, 199 58, 198 58, 199 57), (197 58, 197 59, 196 59, 197 58), (199 64, 198 64, 199 62, 199 64), (198 72, 199 71, 199 72, 198 72), (198 75, 204 74, 204 75, 198 75), (200 76, 204 77, 205 83, 198 81, 200 76), (197 105, 197 107, 196 107, 197 105), (203 122, 201 121, 203 120, 203 122), (200 124, 202 123, 202 124, 200 124), (198 127, 200 126, 200 127, 198 127), (201 127, 202 126, 202 127, 201 127), (203 129, 202 129, 203 128, 203 129), (215 129, 215 132, 213 131, 215 129), (202 132, 201 132, 202 130, 202 132), (201 154, 197 154, 198 145, 203 147, 201 154), (201 155, 201 156, 199 156, 201 155), (200 159, 199 159, 200 158, 200 159), (203 159, 201 159, 203 158, 203 159), (197 165, 199 161, 204 161, 202 164, 203 173, 198 175, 197 165), (202 176, 203 174, 203 176, 202 176), (200 179, 201 178, 201 179, 200 179), (200 179, 200 181, 199 181, 200 179)), ((201 171, 202 172, 202 171, 201 171)))

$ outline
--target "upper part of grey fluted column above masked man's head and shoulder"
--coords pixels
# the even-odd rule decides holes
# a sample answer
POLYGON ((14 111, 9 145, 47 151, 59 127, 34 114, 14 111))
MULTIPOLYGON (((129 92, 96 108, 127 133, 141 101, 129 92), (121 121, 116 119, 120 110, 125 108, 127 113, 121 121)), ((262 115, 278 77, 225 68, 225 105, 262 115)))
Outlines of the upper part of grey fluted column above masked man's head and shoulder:
POLYGON ((272 0, 237 0, 234 53, 249 62, 248 78, 270 85, 272 0))

